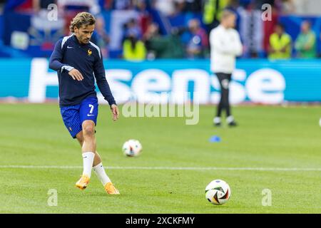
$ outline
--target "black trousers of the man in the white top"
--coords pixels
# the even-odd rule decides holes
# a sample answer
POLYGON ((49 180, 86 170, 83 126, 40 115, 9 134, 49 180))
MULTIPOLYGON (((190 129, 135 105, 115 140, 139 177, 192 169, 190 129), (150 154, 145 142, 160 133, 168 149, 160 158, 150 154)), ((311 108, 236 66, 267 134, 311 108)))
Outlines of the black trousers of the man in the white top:
POLYGON ((217 117, 222 115, 223 110, 226 112, 226 116, 230 116, 230 101, 229 101, 229 86, 231 80, 231 73, 216 73, 218 81, 220 82, 220 103, 218 103, 217 117))

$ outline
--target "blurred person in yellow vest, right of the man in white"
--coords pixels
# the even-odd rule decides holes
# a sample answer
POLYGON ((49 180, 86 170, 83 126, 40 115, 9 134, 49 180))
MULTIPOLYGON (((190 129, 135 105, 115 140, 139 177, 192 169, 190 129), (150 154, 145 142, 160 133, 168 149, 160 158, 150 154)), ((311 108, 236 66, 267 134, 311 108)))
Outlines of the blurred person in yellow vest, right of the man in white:
POLYGON ((269 56, 270 59, 289 59, 292 53, 292 38, 285 33, 282 24, 275 26, 275 33, 270 36, 269 56))

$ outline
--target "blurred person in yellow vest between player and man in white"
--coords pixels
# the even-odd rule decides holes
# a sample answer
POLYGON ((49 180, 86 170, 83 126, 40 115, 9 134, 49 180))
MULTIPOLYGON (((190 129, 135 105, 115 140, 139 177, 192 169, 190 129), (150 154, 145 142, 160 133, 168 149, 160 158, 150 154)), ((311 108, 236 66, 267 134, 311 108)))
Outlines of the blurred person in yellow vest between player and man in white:
POLYGON ((129 31, 123 42, 123 58, 128 61, 142 61, 146 58, 146 48, 135 31, 129 31))

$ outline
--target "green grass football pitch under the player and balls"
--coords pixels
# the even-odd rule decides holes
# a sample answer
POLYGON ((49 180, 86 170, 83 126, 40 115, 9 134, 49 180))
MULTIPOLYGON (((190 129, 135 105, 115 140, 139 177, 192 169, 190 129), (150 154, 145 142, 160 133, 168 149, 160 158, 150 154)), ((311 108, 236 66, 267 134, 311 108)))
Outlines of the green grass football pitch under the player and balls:
POLYGON ((74 186, 82 172, 80 147, 63 126, 58 105, 0 104, 0 212, 320 213, 320 107, 240 106, 233 112, 240 123, 233 129, 213 128, 213 106, 200 107, 198 125, 185 125, 184 118, 121 117, 113 123, 108 106, 101 105, 97 150, 103 165, 113 167, 106 172, 121 192, 111 196, 94 173, 86 190, 74 186), (212 135, 222 141, 209 142, 212 135), (121 152, 123 142, 131 138, 143 145, 140 157, 121 152), (205 186, 215 179, 225 180, 232 190, 222 206, 205 199, 205 186), (56 207, 47 204, 50 189, 58 192, 56 207), (262 204, 264 189, 272 192, 272 206, 262 204))

